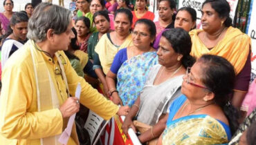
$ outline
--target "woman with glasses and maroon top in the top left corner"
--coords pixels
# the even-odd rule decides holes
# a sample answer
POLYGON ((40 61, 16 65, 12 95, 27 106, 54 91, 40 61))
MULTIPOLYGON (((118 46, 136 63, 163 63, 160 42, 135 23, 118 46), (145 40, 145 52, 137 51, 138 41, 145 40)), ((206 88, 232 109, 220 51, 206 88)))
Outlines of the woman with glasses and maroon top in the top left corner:
POLYGON ((4 12, 0 12, 0 35, 5 35, 8 31, 8 25, 10 24, 10 19, 12 18, 13 9, 13 1, 12 0, 4 0, 3 1, 4 12))

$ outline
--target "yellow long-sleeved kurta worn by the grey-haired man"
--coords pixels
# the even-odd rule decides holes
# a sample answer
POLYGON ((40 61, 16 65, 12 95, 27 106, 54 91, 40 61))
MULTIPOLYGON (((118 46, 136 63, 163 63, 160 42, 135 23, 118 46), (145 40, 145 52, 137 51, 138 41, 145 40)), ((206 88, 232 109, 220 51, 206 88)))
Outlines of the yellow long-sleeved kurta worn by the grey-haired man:
MULTIPOLYGON (((66 61, 64 70, 68 81, 68 88, 72 96, 75 95, 77 83, 80 82, 82 92, 80 102, 93 110, 104 119, 110 119, 118 111, 118 106, 108 101, 97 90, 93 89, 78 77, 63 51, 60 51, 66 61)), ((42 52, 46 66, 57 88, 60 104, 68 98, 66 85, 62 75, 55 75, 57 57, 53 59, 42 52)), ((39 139, 52 135, 59 135, 64 130, 62 114, 58 108, 37 111, 37 88, 30 50, 17 50, 6 63, 2 75, 2 90, 0 97, 0 144, 40 144, 39 139)), ((71 135, 68 144, 75 144, 77 135, 71 135)))

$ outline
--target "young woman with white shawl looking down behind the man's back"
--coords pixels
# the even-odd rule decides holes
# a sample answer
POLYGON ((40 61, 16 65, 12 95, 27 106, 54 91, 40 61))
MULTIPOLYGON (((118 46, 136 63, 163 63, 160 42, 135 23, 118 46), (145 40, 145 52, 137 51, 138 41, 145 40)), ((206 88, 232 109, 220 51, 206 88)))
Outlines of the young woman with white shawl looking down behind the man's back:
POLYGON ((8 26, 8 32, 3 38, 3 46, 1 47, 2 68, 12 53, 24 45, 27 40, 27 33, 28 15, 26 12, 15 12, 12 14, 12 19, 10 19, 10 26, 8 26))

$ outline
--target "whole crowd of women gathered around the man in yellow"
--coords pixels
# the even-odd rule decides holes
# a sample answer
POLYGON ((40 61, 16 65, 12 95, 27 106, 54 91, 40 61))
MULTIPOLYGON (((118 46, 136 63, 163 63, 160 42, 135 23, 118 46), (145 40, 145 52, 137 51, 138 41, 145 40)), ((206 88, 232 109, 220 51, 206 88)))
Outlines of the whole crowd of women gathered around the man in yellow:
MULTIPOLYGON (((0 13, 2 68, 26 42, 26 12, 0 13)), ((226 0, 196 11, 159 0, 77 0, 66 55, 78 75, 115 104, 129 106, 122 130, 147 144, 255 144, 256 80, 250 82, 250 37, 232 27, 226 0), (249 88, 250 84, 250 88, 249 88), (246 119, 245 119, 246 118, 246 119), (244 121, 244 122, 243 122, 244 121), (241 124, 239 126, 239 124, 241 124), (231 140, 231 141, 230 141, 231 140)))

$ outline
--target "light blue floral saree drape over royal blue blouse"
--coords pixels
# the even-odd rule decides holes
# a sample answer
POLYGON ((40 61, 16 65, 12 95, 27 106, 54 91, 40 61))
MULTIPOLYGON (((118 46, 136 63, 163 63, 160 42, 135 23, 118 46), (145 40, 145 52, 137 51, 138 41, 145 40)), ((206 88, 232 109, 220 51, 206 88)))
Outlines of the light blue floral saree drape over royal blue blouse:
POLYGON ((131 107, 147 80, 149 70, 158 63, 156 52, 145 52, 125 61, 118 70, 117 90, 123 105, 131 107))

